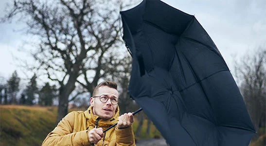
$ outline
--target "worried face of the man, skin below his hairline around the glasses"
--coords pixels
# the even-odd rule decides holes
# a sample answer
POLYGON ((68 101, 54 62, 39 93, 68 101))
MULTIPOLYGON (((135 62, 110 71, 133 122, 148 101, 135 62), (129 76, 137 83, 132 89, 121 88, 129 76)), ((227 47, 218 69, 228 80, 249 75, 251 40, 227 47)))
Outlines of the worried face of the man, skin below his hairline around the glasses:
MULTIPOLYGON (((118 91, 108 86, 101 86, 98 88, 95 96, 100 95, 107 95, 109 98, 118 98, 118 91)), ((110 99, 108 99, 106 103, 103 103, 100 101, 100 97, 94 97, 90 98, 89 102, 90 106, 92 107, 93 114, 102 119, 110 119, 115 114, 117 105, 113 105, 110 99)))

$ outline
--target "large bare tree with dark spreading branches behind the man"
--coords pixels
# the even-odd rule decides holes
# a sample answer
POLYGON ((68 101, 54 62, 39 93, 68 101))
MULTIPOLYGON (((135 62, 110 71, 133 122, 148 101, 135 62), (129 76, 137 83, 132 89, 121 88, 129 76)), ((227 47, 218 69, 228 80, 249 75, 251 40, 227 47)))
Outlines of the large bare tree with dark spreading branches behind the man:
POLYGON ((57 122, 78 81, 92 93, 117 56, 121 0, 14 0, 1 21, 21 17, 38 39, 34 68, 59 85, 57 122), (85 78, 85 82, 83 81, 85 78))

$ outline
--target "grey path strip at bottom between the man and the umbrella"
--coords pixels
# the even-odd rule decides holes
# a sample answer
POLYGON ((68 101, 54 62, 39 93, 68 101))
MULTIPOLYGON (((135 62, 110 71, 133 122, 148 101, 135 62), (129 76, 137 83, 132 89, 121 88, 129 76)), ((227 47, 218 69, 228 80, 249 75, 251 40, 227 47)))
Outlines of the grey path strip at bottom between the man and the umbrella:
POLYGON ((136 146, 167 146, 167 144, 163 138, 151 138, 138 140, 136 146))

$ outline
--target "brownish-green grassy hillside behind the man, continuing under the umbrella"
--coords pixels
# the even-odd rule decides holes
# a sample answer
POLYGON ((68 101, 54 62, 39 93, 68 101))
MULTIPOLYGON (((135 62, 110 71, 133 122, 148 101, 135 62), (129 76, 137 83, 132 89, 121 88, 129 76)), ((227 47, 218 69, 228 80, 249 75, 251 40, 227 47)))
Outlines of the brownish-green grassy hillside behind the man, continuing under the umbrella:
MULTIPOLYGON (((70 110, 71 111, 71 110, 70 110)), ((57 108, 38 106, 0 106, 0 146, 40 146, 49 132, 55 128, 57 108)), ((137 139, 160 135, 154 125, 147 135, 144 121, 141 136, 137 139)), ((136 130, 138 121, 133 123, 136 130)))

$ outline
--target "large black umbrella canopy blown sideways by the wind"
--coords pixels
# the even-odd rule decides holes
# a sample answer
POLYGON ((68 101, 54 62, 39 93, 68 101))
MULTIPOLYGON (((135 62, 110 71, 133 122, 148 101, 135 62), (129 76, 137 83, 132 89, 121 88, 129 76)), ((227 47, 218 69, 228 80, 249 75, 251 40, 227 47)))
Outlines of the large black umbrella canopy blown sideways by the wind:
POLYGON ((121 12, 130 95, 170 146, 248 146, 255 133, 217 47, 196 18, 160 0, 121 12))

